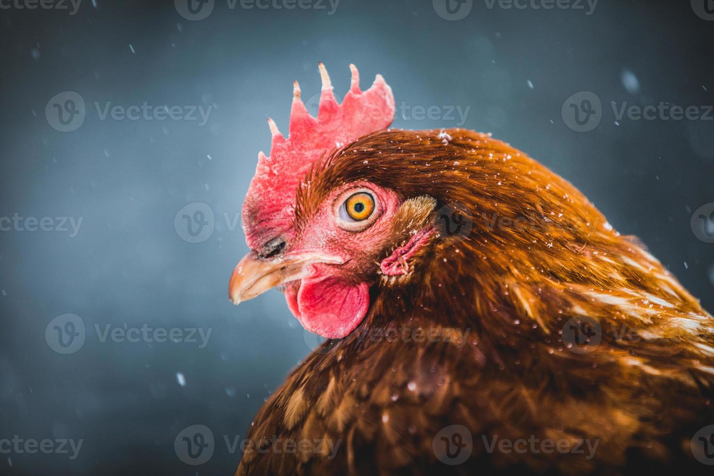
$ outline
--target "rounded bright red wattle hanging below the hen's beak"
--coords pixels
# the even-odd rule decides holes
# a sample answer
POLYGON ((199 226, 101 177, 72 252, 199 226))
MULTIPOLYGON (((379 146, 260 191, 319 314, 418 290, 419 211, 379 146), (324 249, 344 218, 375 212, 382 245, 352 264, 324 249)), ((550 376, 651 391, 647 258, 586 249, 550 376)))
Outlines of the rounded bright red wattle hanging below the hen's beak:
POLYGON ((367 314, 369 286, 333 276, 303 279, 296 304, 296 316, 304 328, 324 338, 339 339, 351 333, 367 314))

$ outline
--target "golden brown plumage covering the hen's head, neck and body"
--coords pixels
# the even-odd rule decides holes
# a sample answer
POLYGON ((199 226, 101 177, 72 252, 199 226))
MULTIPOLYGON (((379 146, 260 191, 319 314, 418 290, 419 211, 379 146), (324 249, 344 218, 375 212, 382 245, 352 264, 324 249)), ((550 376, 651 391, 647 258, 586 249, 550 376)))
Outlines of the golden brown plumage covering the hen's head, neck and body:
POLYGON ((375 264, 366 318, 309 355, 253 420, 256 444, 329 440, 334 457, 328 445, 248 451, 236 475, 709 469, 690 440, 714 423, 714 321, 570 183, 484 134, 384 131, 303 178, 296 227, 329 191, 357 181, 406 201, 377 263, 413 230, 433 222, 438 233, 408 275, 381 276, 375 264), (468 236, 448 236, 443 207, 470 215, 468 236), (441 338, 375 338, 390 328, 441 338), (573 340, 587 329, 592 342, 573 340), (473 435, 473 455, 449 466, 433 440, 455 424, 473 435), (488 452, 494 435, 598 443, 591 459, 488 452))

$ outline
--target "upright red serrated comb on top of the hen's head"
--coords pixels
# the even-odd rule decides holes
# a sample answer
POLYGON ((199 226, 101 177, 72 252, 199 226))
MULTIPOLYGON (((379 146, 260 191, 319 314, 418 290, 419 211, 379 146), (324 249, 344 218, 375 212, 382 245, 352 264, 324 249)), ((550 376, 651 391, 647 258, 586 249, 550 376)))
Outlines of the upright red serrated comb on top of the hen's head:
POLYGON ((350 91, 342 104, 338 104, 322 63, 319 69, 322 93, 317 118, 308 113, 301 101, 297 81, 288 138, 284 138, 275 122, 268 118, 273 133, 271 155, 258 153, 256 175, 243 203, 243 231, 252 249, 260 250, 266 241, 277 236, 283 239, 292 236, 298 186, 313 163, 336 147, 386 129, 394 118, 394 96, 381 75, 376 76, 371 88, 360 91, 359 73, 351 64, 350 91))

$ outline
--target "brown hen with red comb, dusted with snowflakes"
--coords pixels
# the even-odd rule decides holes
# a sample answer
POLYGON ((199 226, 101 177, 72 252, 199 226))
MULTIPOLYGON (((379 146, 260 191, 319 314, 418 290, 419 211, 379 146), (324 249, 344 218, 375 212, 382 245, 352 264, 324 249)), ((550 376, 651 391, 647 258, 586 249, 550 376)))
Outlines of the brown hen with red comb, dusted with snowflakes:
POLYGON ((714 464, 714 321, 570 183, 488 134, 390 130, 381 76, 295 83, 243 206, 240 303, 328 338, 237 475, 623 474, 714 464), (465 455, 465 456, 464 456, 465 455))

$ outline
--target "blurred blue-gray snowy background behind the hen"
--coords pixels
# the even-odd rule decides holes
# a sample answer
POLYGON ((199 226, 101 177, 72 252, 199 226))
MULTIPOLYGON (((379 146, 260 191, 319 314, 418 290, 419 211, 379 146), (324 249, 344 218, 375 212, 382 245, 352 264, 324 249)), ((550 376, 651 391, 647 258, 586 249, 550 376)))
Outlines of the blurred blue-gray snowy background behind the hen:
POLYGON ((526 151, 714 311, 714 244, 690 226, 714 202, 714 121, 618 121, 612 107, 705 115, 714 14, 704 0, 448 0, 451 14, 445 0, 215 0, 210 14, 195 0, 193 14, 186 0, 83 0, 74 14, 69 0, 18 8, 27 1, 0 1, 1 474, 232 474, 240 450, 224 437, 244 437, 316 343, 278 291, 235 308, 226 287, 247 251, 240 208, 256 154, 269 151, 266 118, 287 131, 292 81, 306 100, 317 94, 318 61, 338 96, 349 63, 363 88, 383 74, 396 127, 463 126, 526 151), (580 91, 601 101, 586 132, 570 127, 568 104, 563 115, 580 91), (146 117, 122 116, 144 103, 146 117), (174 118, 159 121, 161 106, 174 118), (62 347, 81 325, 83 343, 62 347), (183 334, 122 341, 142 327, 183 334), (210 330, 203 348, 198 332, 186 339, 191 328, 210 330), (213 432, 203 465, 174 450, 189 425, 213 432), (15 435, 19 451, 1 452, 15 435), (44 439, 49 454, 23 446, 44 439), (74 459, 57 451, 64 439, 83 441, 74 459))

